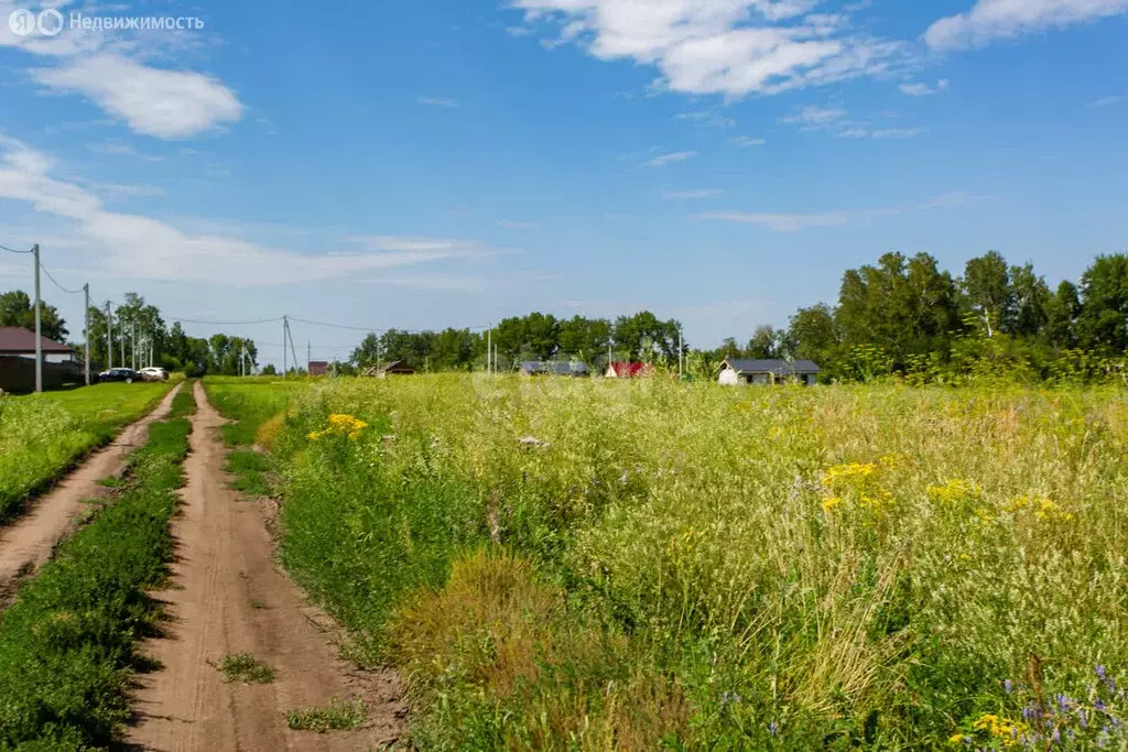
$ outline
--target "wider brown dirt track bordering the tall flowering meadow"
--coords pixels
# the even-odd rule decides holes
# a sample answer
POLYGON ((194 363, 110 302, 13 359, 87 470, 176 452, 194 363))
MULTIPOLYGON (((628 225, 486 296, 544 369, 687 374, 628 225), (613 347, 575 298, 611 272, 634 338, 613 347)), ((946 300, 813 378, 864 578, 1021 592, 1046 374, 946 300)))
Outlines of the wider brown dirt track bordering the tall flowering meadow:
POLYGON ((195 387, 183 514, 166 601, 167 635, 142 651, 162 669, 140 678, 127 741, 144 750, 371 750, 400 738, 403 706, 395 678, 360 672, 337 657, 316 625, 326 623, 275 567, 263 510, 228 488, 223 418, 195 387), (226 683, 213 667, 250 653, 273 666, 273 683, 226 683), (287 713, 361 697, 368 720, 355 731, 294 732, 287 713))

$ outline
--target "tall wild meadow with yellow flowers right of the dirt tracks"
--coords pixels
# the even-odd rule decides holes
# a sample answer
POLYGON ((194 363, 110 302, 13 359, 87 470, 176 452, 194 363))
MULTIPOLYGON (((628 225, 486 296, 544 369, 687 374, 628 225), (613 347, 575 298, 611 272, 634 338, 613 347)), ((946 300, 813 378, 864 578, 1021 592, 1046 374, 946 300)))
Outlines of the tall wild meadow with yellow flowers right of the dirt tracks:
POLYGON ((205 383, 423 749, 1128 744, 1122 390, 205 383))

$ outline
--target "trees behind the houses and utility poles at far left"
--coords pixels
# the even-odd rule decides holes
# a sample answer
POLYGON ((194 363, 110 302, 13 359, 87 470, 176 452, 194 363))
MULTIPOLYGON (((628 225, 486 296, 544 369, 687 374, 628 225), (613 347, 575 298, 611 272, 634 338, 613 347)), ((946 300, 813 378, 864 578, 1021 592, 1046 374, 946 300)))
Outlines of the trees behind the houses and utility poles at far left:
MULTIPOLYGON (((41 302, 39 325, 43 336, 55 342, 68 342, 67 321, 55 307, 41 302)), ((16 326, 35 330, 35 307, 21 290, 0 294, 0 326, 16 326)), ((79 322, 81 330, 82 322, 79 322)), ((81 334, 81 331, 80 331, 81 334)), ((83 343, 69 342, 81 357, 83 343)), ((190 377, 209 373, 237 375, 253 373, 258 351, 253 339, 215 334, 204 339, 190 337, 180 324, 166 326, 156 306, 130 292, 124 302, 113 306, 90 307, 90 361, 100 366, 111 362, 115 366, 140 368, 152 363, 169 371, 184 371, 190 377), (108 316, 107 316, 107 310, 108 316), (113 357, 108 352, 113 337, 113 357)))

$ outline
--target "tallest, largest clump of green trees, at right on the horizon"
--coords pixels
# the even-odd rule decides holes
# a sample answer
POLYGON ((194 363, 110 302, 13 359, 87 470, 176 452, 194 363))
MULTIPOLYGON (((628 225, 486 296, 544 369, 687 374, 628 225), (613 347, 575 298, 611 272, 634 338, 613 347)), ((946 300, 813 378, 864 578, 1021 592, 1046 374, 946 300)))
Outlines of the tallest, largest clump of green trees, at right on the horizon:
POLYGON ((843 275, 836 306, 799 310, 785 330, 759 327, 713 355, 810 359, 825 379, 900 374, 1098 377, 1128 350, 1128 255, 1098 257, 1078 283, 1050 289, 1031 264, 989 251, 960 276, 927 254, 885 254, 843 275))

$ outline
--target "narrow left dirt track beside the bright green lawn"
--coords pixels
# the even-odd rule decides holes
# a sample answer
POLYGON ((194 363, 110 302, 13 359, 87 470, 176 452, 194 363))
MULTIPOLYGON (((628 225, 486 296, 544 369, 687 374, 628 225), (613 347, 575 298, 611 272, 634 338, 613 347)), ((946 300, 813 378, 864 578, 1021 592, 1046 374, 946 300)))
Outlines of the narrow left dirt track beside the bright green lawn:
POLYGON ((0 608, 15 594, 18 581, 51 558, 55 543, 74 528, 86 502, 107 493, 98 481, 125 468, 130 453, 149 439, 149 424, 164 419, 183 384, 160 400, 152 413, 132 423, 108 446, 98 450, 45 496, 34 502, 21 517, 0 528, 0 608))

